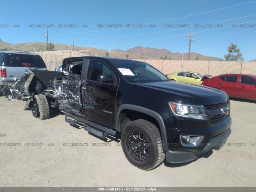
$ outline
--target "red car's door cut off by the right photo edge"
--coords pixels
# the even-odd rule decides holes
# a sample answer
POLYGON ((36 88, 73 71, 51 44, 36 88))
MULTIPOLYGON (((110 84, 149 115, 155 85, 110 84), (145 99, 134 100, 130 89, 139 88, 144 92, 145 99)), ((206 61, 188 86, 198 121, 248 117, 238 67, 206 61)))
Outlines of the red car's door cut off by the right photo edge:
POLYGON ((238 83, 237 97, 242 98, 256 98, 256 79, 249 76, 240 76, 240 82, 238 83))

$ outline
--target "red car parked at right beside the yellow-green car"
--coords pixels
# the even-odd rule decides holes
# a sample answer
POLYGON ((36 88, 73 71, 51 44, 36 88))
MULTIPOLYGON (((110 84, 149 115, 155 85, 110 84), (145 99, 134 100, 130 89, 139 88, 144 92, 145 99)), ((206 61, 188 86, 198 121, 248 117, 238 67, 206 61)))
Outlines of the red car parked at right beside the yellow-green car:
POLYGON ((256 100, 256 75, 223 74, 205 79, 202 85, 220 89, 230 97, 256 100))

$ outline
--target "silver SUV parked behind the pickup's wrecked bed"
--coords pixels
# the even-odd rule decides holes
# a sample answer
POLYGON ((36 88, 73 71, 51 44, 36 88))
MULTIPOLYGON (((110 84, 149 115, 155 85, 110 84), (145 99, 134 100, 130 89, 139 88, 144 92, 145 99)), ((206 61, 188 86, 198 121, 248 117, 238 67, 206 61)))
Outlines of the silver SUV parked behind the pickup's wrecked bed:
POLYGON ((0 88, 18 81, 27 69, 47 70, 40 55, 24 51, 0 51, 0 88))

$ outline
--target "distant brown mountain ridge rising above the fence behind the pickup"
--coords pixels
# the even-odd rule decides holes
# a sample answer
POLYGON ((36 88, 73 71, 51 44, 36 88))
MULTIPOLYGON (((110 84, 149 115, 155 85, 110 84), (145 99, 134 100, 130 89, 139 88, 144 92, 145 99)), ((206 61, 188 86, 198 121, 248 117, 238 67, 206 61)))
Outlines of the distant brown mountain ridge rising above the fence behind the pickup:
MULTIPOLYGON (((114 50, 117 51, 117 50, 114 50)), ((120 50, 119 50, 120 52, 120 50)), ((134 48, 125 50, 122 52, 125 52, 127 54, 134 54, 134 55, 140 55, 142 56, 144 54, 144 58, 150 57, 150 58, 160 58, 161 56, 164 58, 167 56, 167 59, 171 58, 171 60, 182 60, 182 56, 184 55, 184 60, 188 60, 188 53, 178 53, 178 52, 170 52, 167 49, 157 49, 157 48, 149 48, 149 47, 141 47, 136 46, 134 48)), ((198 53, 196 52, 190 52, 190 60, 196 60, 196 56, 198 53)), ((218 57, 212 57, 212 56, 204 56, 201 55, 200 60, 216 60, 219 61, 220 58, 218 57)))

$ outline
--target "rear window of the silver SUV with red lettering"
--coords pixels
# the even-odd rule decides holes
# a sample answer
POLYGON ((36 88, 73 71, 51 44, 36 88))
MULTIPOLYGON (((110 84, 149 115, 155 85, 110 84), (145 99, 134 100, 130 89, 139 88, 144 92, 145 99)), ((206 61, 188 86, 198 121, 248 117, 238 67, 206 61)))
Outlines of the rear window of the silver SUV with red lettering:
POLYGON ((44 60, 39 55, 6 53, 5 67, 36 67, 46 68, 44 60))

